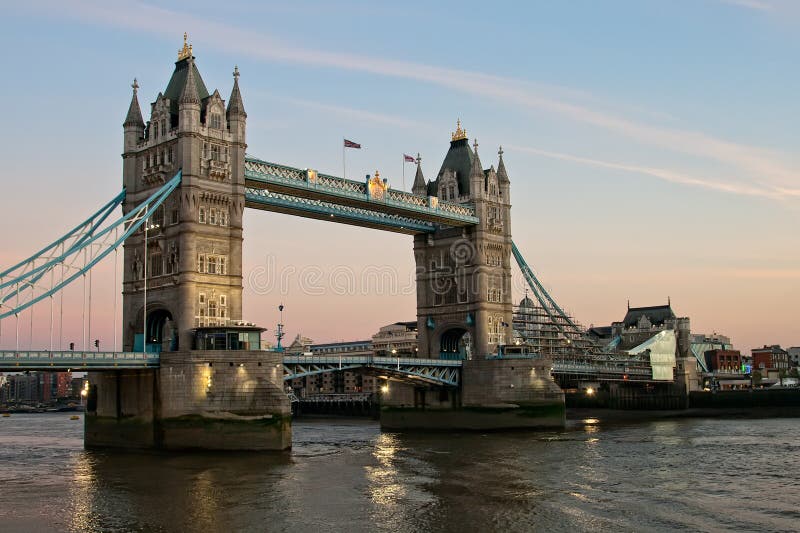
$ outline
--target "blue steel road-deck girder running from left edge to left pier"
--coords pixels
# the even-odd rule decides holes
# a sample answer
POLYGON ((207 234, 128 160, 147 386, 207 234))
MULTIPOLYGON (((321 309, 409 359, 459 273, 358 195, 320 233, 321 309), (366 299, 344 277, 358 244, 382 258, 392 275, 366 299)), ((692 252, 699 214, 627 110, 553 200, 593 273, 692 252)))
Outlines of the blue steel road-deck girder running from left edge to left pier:
POLYGON ((126 368, 157 368, 159 364, 160 360, 157 353, 0 351, 0 371, 5 372, 24 370, 102 371, 126 368))

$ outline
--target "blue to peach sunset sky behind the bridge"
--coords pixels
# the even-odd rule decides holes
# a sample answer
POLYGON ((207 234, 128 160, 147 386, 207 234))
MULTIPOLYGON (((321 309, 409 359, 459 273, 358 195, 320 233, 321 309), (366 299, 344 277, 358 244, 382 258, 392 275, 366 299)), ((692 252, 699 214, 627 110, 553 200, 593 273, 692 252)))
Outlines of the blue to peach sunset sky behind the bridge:
MULTIPOLYGON (((484 166, 503 146, 514 240, 580 322, 670 298, 693 332, 742 351, 800 345, 800 2, 37 1, 2 15, 1 267, 120 190, 131 82, 147 119, 186 31, 210 91, 227 99, 238 65, 249 154, 340 175, 346 137, 363 145, 348 177, 377 169, 402 188, 403 153, 435 178, 461 118, 484 166)), ((244 237, 245 318, 268 335, 280 302, 288 336, 317 342, 416 316, 408 236, 247 211, 244 237), (265 286, 265 268, 283 281, 265 286)), ((94 274, 107 348, 112 280, 113 263, 94 274)), ((515 287, 516 301, 518 274, 515 287)), ((80 308, 79 289, 67 299, 80 308)), ((77 341, 80 313, 65 321, 77 341)), ((2 346, 13 330, 4 320, 2 346)))

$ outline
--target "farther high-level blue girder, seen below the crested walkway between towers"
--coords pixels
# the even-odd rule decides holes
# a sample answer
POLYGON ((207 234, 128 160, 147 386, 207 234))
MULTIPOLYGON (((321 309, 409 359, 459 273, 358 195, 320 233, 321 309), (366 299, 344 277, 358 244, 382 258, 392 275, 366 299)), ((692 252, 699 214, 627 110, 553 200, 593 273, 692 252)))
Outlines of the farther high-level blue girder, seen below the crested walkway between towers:
POLYGON ((432 233, 436 231, 436 225, 425 220, 311 198, 275 193, 267 189, 247 187, 245 189, 245 206, 265 211, 297 215, 305 218, 328 220, 355 226, 366 226, 408 235, 432 233))

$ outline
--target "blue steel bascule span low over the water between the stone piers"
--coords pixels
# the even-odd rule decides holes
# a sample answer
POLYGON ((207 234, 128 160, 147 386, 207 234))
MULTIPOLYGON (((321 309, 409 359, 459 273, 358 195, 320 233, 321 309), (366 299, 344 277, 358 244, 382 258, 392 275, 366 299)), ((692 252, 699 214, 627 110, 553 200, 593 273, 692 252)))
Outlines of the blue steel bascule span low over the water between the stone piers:
POLYGON ((283 379, 324 374, 344 370, 367 369, 405 381, 458 387, 461 383, 461 361, 447 359, 414 359, 373 356, 302 356, 283 358, 283 379))

